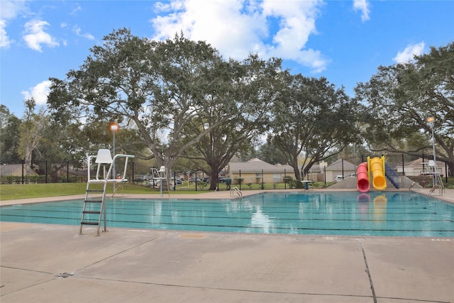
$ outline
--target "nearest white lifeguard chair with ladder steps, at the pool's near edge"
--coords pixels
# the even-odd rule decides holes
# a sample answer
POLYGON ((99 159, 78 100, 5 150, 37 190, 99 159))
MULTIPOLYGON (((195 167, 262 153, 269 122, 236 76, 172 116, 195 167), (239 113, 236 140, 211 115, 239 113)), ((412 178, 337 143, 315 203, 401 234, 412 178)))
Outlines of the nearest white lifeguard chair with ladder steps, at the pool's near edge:
POLYGON ((116 184, 126 181, 126 169, 128 167, 128 159, 134 158, 133 155, 114 155, 111 157, 111 151, 108 149, 98 150, 98 155, 90 155, 88 158, 88 180, 87 180, 87 191, 85 192, 84 208, 82 209, 82 218, 80 219, 79 234, 82 235, 82 226, 92 225, 98 226, 96 235, 99 236, 99 228, 101 227, 101 217, 104 214, 104 231, 107 231, 106 224, 106 189, 107 184, 116 184), (123 175, 118 178, 111 178, 112 169, 114 167, 115 160, 118 158, 125 158, 125 164, 123 169, 123 175), (96 159, 97 164, 96 176, 94 179, 90 176, 90 167, 92 165, 92 159, 96 159), (106 172, 106 166, 109 166, 106 172), (101 185, 101 188, 97 185, 101 185), (94 188, 96 187, 96 188, 94 188), (99 196, 101 194, 101 196, 99 196), (92 195, 92 197, 90 197, 92 195), (94 197, 93 197, 94 195, 94 197))

